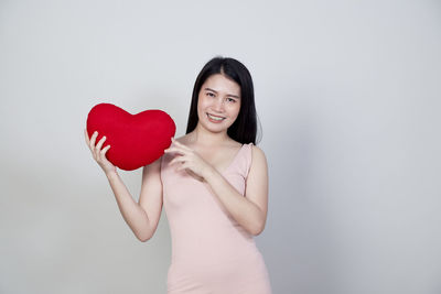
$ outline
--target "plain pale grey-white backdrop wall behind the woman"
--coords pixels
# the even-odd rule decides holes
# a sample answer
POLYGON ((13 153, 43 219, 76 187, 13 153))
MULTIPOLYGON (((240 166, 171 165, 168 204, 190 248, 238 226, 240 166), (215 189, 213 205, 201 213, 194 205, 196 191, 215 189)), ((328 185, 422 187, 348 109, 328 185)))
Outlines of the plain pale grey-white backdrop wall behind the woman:
POLYGON ((165 293, 164 211, 139 242, 83 130, 111 102, 183 135, 215 55, 255 81, 273 293, 441 293, 440 52, 439 1, 0 1, 0 293, 165 293))

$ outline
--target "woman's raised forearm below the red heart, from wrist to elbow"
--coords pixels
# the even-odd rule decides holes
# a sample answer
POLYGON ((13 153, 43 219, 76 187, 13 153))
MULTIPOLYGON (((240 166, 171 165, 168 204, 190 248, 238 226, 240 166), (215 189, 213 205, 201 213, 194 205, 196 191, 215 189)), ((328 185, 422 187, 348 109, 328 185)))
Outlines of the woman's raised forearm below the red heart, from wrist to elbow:
POLYGON ((140 241, 144 242, 149 240, 151 238, 151 231, 146 210, 133 200, 118 173, 109 173, 106 176, 127 225, 140 241))

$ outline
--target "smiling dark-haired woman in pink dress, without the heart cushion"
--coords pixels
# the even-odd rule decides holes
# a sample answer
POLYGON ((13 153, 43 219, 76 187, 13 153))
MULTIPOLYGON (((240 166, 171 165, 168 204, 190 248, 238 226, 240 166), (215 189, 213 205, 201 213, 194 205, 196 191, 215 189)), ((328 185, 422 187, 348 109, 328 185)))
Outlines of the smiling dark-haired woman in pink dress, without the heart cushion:
POLYGON ((136 237, 149 240, 164 203, 172 237, 168 293, 269 294, 268 271, 254 240, 265 228, 268 168, 256 144, 254 87, 248 69, 215 57, 193 89, 186 134, 143 167, 136 203, 106 159, 106 140, 86 142, 105 171, 136 237))

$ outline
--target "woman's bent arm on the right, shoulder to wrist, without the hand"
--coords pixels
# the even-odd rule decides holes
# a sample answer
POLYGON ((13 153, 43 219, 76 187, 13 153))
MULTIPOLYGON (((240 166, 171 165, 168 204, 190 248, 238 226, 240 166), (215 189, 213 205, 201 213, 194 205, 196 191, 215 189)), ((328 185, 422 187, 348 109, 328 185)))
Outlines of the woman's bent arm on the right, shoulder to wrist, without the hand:
POLYGON ((268 210, 268 166, 263 151, 252 146, 251 167, 246 179, 245 197, 215 168, 205 181, 233 218, 248 232, 258 236, 265 229, 268 210))

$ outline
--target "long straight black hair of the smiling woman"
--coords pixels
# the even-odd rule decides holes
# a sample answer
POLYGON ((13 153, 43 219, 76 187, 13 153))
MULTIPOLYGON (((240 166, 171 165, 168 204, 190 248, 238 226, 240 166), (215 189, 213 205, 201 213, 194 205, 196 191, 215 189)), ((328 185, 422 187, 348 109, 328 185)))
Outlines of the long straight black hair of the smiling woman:
POLYGON ((209 76, 215 74, 222 74, 240 86, 239 115, 235 122, 228 128, 227 134, 233 140, 243 144, 252 142, 256 145, 258 118, 251 75, 245 65, 229 57, 216 56, 212 58, 197 75, 193 87, 192 104, 190 106, 189 122, 185 133, 190 133, 196 128, 198 122, 197 101, 201 87, 209 76))

